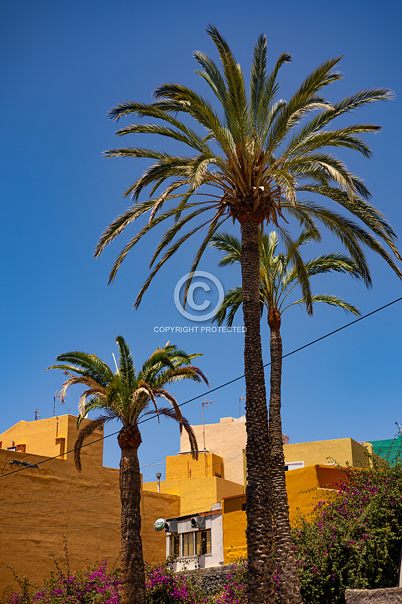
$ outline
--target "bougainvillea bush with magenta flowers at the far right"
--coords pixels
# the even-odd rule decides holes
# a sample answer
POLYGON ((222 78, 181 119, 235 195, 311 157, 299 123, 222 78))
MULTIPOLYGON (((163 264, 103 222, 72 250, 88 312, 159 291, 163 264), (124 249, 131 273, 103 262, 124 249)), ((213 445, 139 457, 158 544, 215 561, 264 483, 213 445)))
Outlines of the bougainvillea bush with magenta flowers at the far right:
POLYGON ((303 600, 344 603, 346 589, 394 587, 402 546, 402 465, 348 467, 314 518, 293 531, 303 600))

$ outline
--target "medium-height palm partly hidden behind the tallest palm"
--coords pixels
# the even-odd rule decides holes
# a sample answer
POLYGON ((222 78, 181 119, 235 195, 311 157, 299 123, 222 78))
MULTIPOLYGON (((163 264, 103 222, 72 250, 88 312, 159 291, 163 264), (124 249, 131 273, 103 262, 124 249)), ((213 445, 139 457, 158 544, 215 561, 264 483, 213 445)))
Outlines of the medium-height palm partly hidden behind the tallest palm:
MULTIPOLYGON (((294 242, 294 248, 299 251, 301 246, 314 240, 314 235, 303 231, 294 242)), ((230 266, 241 260, 241 242, 230 233, 217 233, 212 237, 211 246, 224 252, 220 266, 230 266)), ((289 300, 289 294, 300 286, 298 272, 292 264, 292 254, 276 254, 278 235, 272 231, 270 235, 261 235, 259 242, 260 254, 260 313, 267 310, 268 325, 270 326, 271 352, 271 391, 269 406, 269 463, 270 484, 273 501, 273 527, 275 540, 275 562, 279 580, 279 590, 283 603, 292 602, 300 596, 297 565, 292 548, 292 533, 289 523, 289 508, 285 481, 285 457, 283 454, 282 420, 281 420, 281 377, 282 377, 282 338, 281 318, 287 308, 294 305, 306 305, 302 297, 289 300)), ((320 255, 305 262, 307 277, 322 275, 328 272, 346 272, 352 277, 361 278, 357 264, 348 256, 341 253, 320 255)), ((314 294, 311 301, 324 302, 343 308, 346 312, 359 315, 359 310, 329 294, 314 294)), ((224 321, 231 327, 235 314, 243 303, 241 287, 229 290, 217 310, 214 321, 222 325, 224 321)))

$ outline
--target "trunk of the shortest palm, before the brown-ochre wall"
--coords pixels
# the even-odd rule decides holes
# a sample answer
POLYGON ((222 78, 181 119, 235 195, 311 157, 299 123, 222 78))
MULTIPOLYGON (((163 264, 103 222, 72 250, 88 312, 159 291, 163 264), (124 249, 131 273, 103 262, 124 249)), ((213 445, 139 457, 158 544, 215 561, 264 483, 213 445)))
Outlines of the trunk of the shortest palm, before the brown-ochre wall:
POLYGON ((145 574, 141 542, 141 474, 137 451, 141 435, 137 426, 123 428, 121 448, 121 604, 145 604, 145 574))

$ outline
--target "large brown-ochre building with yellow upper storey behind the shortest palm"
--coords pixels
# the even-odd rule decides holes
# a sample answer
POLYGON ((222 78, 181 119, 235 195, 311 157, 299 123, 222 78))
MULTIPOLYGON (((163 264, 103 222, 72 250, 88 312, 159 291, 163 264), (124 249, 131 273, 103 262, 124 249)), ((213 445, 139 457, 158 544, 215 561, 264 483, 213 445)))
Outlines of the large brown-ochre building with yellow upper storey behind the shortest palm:
MULTIPOLYGON (((60 424, 68 426, 66 439, 72 448, 77 418, 62 416, 58 420, 59 430, 60 424)), ((10 465, 13 459, 38 464, 51 456, 56 421, 56 418, 50 418, 49 423, 38 420, 38 426, 32 426, 35 422, 19 422, 3 432, 0 437, 3 447, 11 446, 9 437, 18 443, 26 439, 27 452, 1 449, 0 475, 21 467, 10 465), (43 430, 46 424, 49 432, 43 430), (42 448, 42 455, 32 453, 36 445, 42 448)), ((102 432, 95 432, 88 441, 99 437, 102 432)), ((49 554, 63 554, 63 535, 67 536, 72 570, 102 559, 113 563, 119 554, 119 470, 102 466, 102 441, 82 449, 82 472, 75 469, 72 455, 67 457, 1 478, 0 599, 6 585, 11 583, 17 588, 9 565, 20 577, 26 575, 40 584, 49 576, 54 570, 49 554)), ((160 517, 172 518, 179 511, 179 498, 175 494, 142 491, 141 536, 147 561, 165 560, 165 534, 154 531, 154 521, 160 517)))

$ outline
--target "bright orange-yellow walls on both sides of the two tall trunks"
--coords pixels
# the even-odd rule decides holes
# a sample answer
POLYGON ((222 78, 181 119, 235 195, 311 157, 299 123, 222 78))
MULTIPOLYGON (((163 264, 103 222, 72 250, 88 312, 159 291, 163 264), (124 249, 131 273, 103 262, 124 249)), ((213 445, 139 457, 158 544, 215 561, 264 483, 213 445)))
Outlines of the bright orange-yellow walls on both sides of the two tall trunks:
MULTIPOLYGON (((333 466, 311 465, 286 472, 286 491, 291 524, 298 513, 309 515, 318 501, 326 500, 333 487, 344 478, 344 474, 333 466), (309 492, 308 489, 311 490, 309 492)), ((224 533, 224 561, 230 564, 239 556, 247 555, 246 547, 246 496, 231 497, 222 501, 222 525, 224 533)))

